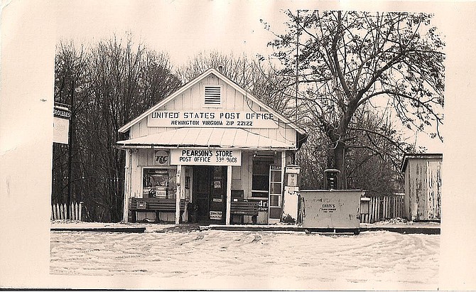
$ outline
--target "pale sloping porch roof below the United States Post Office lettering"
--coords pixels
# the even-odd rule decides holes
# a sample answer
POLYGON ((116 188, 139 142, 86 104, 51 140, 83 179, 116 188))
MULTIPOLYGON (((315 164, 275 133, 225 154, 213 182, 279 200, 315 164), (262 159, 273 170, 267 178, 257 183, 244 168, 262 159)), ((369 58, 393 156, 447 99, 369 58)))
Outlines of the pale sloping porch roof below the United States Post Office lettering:
POLYGON ((244 129, 180 128, 135 139, 118 141, 121 148, 220 147, 252 149, 295 149, 293 144, 269 139, 244 129))

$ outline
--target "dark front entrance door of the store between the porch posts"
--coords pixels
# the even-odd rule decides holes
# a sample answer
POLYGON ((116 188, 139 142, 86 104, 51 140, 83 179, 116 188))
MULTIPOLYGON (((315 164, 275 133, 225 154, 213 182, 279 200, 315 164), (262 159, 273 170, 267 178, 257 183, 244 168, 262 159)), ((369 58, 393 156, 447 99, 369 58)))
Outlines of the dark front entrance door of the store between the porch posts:
POLYGON ((193 167, 193 203, 199 222, 225 223, 226 166, 193 167))

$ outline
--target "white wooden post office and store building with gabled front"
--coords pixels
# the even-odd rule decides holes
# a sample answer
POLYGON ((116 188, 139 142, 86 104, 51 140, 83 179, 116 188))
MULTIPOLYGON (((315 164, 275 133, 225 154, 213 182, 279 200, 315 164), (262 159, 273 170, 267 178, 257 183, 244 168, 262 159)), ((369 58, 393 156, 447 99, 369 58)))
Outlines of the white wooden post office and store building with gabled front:
POLYGON ((117 141, 126 156, 124 222, 268 224, 297 210, 283 181, 305 131, 218 70, 119 132, 129 133, 117 141))

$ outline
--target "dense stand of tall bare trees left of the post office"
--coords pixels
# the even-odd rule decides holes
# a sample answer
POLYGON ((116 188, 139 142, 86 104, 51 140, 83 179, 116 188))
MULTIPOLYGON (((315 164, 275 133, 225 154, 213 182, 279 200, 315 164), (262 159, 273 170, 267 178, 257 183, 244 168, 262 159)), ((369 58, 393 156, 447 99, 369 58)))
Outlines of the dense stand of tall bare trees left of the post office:
MULTIPOLYGON (((87 50, 87 58, 79 59, 83 63, 71 83, 75 86, 65 90, 61 80, 67 80, 68 71, 60 60, 72 55, 79 62, 75 50, 73 44, 59 45, 55 70, 57 101, 70 101, 61 92, 75 94, 74 193, 85 201, 91 220, 116 222, 122 217, 125 161, 124 153, 113 146, 126 138, 117 130, 177 90, 181 82, 172 74, 167 55, 134 45, 131 36, 113 37, 87 50)), ((55 171, 62 175, 60 168, 55 171)))

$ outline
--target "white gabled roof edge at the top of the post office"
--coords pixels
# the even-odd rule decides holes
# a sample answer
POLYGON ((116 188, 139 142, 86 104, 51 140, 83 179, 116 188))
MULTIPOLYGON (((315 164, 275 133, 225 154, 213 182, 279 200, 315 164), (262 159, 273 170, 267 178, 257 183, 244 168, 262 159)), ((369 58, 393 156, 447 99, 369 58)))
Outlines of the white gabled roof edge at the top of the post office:
POLYGON ((239 85, 237 85, 235 82, 233 82, 232 80, 229 80, 228 77, 226 77, 225 75, 222 75, 222 73, 220 73, 218 70, 215 70, 213 68, 203 72, 200 76, 198 76, 194 80, 188 82, 186 85, 181 87, 179 90, 173 92, 173 94, 169 95, 168 97, 163 99, 161 102, 158 102, 158 104, 154 105, 150 109, 147 109, 146 112, 142 113, 139 117, 136 117, 135 119, 133 119, 132 121, 129 121, 129 123, 125 124, 124 126, 121 126, 121 128, 119 128, 118 131, 120 133, 126 133, 126 131, 129 131, 131 126, 134 126, 134 124, 136 124, 139 121, 141 121, 142 119, 146 118, 149 114, 151 114, 152 112, 155 112, 160 107, 163 107, 168 102, 171 102, 172 99, 174 99, 175 97, 178 97, 180 94, 182 94, 186 90, 190 89, 190 87, 193 87, 194 85, 196 85, 198 82, 200 82, 201 80, 203 80, 205 77, 207 77, 210 74, 214 74, 215 76, 217 76, 218 78, 220 78, 221 80, 226 82, 228 85, 233 87, 235 90, 242 93, 244 96, 246 96, 252 102, 258 104, 259 107, 262 107, 262 108, 266 109, 266 111, 271 112, 274 115, 274 117, 277 117, 278 119, 280 119, 284 123, 291 126, 291 128, 298 131, 299 134, 301 134, 301 135, 306 134, 306 132, 303 128, 301 128, 300 126, 297 126, 293 122, 289 121, 288 119, 286 119, 286 117, 283 117, 281 114, 278 114, 277 112, 274 111, 274 109, 271 109, 271 107, 267 106, 266 104, 261 102, 259 99, 257 99, 253 95, 249 94, 246 90, 242 89, 242 87, 239 87, 239 85))

